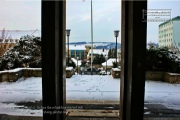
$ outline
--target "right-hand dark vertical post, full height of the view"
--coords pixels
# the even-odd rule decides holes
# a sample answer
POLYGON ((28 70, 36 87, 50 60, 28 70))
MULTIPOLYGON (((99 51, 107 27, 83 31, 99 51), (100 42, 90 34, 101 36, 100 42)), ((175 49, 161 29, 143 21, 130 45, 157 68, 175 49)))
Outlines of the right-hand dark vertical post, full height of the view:
POLYGON ((120 120, 143 120, 147 0, 122 0, 120 120))

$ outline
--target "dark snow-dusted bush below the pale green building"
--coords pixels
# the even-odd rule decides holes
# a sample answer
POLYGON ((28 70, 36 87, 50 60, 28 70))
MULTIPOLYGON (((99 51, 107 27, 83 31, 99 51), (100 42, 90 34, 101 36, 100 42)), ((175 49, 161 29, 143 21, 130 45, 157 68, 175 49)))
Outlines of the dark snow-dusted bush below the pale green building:
POLYGON ((146 52, 146 70, 180 73, 180 59, 167 47, 150 47, 146 52))

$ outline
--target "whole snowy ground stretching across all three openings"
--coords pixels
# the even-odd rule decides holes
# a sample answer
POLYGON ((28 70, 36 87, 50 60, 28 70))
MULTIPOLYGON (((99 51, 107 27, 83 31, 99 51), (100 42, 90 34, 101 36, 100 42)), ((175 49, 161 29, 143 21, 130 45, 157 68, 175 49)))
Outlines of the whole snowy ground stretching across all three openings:
MULTIPOLYGON (((119 90, 120 80, 109 75, 73 75, 66 79, 67 100, 119 100, 119 90)), ((0 83, 0 114, 42 116, 42 110, 17 109, 21 106, 14 104, 39 100, 42 100, 41 77, 0 83)), ((145 102, 180 110, 180 84, 147 80, 145 102)))

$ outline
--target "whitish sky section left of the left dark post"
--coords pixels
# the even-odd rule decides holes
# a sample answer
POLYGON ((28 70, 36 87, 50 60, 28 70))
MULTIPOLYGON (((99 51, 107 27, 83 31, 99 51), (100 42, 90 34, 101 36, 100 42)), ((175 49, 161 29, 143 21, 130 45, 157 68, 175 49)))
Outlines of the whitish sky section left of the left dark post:
POLYGON ((41 29, 41 2, 22 0, 0 0, 0 29, 41 29))

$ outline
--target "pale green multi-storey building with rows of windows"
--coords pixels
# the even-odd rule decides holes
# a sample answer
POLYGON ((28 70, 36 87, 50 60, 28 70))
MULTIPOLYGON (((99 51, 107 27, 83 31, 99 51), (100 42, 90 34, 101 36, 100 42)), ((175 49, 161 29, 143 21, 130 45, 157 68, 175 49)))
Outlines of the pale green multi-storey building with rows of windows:
POLYGON ((159 25, 159 46, 180 48, 180 16, 159 25))

